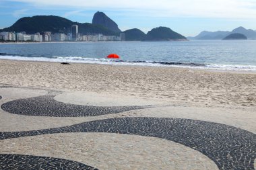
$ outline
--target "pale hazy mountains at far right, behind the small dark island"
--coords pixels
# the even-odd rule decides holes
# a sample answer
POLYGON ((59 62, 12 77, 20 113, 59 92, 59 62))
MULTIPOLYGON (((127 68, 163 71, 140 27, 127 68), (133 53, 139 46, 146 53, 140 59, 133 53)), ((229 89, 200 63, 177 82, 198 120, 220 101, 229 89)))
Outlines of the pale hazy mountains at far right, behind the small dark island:
POLYGON ((251 29, 247 30, 243 27, 238 27, 238 28, 232 30, 232 32, 228 32, 228 31, 218 31, 218 32, 203 31, 195 37, 189 37, 189 39, 190 40, 222 40, 223 38, 225 38, 229 34, 234 34, 234 33, 244 34, 245 36, 247 36, 248 39, 256 39, 256 32, 255 31, 253 31, 251 29))

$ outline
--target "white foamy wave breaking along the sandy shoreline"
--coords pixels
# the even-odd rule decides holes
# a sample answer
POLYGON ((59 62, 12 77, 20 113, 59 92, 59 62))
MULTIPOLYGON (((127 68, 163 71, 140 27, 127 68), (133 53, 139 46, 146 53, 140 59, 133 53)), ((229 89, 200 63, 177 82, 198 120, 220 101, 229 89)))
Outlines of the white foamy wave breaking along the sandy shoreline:
POLYGON ((44 62, 79 62, 100 65, 133 65, 133 66, 150 66, 150 67, 179 67, 190 69, 214 69, 226 71, 256 71, 254 65, 219 65, 219 64, 201 64, 193 62, 165 62, 151 60, 112 60, 108 58, 85 58, 82 56, 28 56, 0 53, 0 59, 5 60, 29 60, 44 62))

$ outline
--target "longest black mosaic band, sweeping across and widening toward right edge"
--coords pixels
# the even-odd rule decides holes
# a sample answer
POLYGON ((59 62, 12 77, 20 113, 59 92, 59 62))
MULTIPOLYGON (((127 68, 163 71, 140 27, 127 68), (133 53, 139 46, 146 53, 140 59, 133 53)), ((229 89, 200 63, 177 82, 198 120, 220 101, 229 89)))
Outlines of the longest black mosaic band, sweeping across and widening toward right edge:
POLYGON ((164 138, 203 153, 219 169, 254 169, 256 157, 256 135, 247 130, 177 118, 113 118, 46 130, 0 132, 0 139, 67 132, 107 132, 164 138))

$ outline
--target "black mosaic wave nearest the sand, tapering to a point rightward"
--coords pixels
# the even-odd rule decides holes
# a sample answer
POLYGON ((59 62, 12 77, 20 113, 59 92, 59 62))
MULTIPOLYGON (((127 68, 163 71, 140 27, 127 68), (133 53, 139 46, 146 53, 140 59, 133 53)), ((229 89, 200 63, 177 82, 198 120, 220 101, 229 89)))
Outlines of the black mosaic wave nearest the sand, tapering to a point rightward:
POLYGON ((18 99, 3 103, 2 110, 11 114, 28 116, 79 117, 117 114, 129 110, 149 108, 148 106, 92 106, 63 103, 54 99, 55 95, 42 95, 28 99, 18 99))

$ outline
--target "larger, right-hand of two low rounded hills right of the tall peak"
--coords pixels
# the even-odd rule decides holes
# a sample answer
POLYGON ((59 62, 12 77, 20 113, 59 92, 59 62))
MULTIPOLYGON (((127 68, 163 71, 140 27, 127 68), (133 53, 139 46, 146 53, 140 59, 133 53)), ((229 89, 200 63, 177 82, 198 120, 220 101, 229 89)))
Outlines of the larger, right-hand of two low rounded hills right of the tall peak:
POLYGON ((166 40, 166 41, 168 41, 168 40, 187 40, 187 38, 185 38, 185 36, 182 36, 181 34, 178 34, 177 32, 170 30, 170 28, 158 27, 158 28, 154 28, 148 32, 146 40, 150 40, 150 41, 166 40))

